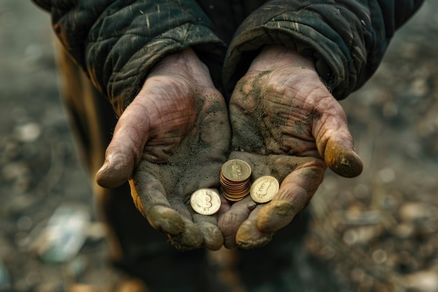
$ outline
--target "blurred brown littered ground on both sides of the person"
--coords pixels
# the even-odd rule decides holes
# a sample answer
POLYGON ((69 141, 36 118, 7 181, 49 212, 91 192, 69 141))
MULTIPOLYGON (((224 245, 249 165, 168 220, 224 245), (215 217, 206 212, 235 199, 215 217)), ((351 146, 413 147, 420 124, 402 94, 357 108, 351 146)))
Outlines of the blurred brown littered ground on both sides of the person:
MULTIPOLYGON (((0 39, 0 291, 64 291, 104 277, 107 247, 59 102, 50 19, 30 1, 2 0, 0 39), (83 249, 57 264, 38 253, 61 204, 91 223, 73 233, 87 238, 83 249)), ((438 2, 426 1, 372 79, 341 102, 365 169, 355 179, 327 172, 306 245, 343 292, 438 291, 437 49, 438 2)))

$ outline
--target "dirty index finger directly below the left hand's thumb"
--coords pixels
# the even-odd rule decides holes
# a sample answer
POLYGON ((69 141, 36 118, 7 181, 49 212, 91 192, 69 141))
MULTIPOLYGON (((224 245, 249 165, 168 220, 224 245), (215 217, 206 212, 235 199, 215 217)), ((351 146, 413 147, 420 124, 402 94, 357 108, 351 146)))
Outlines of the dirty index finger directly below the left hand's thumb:
POLYGON ((139 169, 129 183, 136 208, 153 228, 170 235, 183 232, 185 222, 178 212, 171 208, 165 190, 155 176, 139 169))

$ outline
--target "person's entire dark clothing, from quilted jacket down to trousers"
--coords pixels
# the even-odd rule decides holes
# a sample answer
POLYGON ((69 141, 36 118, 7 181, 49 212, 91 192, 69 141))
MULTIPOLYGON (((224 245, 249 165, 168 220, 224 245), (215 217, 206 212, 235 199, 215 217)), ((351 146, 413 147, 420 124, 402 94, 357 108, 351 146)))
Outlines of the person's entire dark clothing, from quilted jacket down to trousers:
MULTIPOLYGON (((62 44, 62 95, 92 181, 104 162, 115 114, 120 116, 132 102, 150 68, 164 56, 192 47, 229 97, 262 46, 284 45, 313 58, 320 77, 341 99, 372 76, 395 29, 422 2, 34 1, 51 13, 62 44)), ((178 291, 229 291, 211 279, 205 251, 176 251, 164 235, 152 230, 136 211, 127 184, 110 190, 94 183, 94 188, 97 210, 113 238, 113 260, 145 279, 150 291, 175 291, 175 285, 178 291)), ((337 291, 325 286, 324 272, 306 268, 305 230, 303 213, 267 246, 239 251, 236 267, 248 291, 337 291)))

